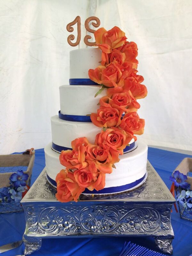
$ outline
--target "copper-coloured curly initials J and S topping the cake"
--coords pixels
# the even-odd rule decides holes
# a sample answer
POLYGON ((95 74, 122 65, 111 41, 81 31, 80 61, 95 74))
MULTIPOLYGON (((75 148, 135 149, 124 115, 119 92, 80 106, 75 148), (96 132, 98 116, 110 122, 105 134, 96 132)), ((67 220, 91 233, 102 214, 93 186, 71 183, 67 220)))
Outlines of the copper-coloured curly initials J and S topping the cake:
MULTIPOLYGON (((89 22, 92 21, 92 20, 93 20, 93 21, 96 21, 96 23, 95 23, 95 22, 92 22, 92 23, 91 23, 94 28, 98 28, 98 27, 100 26, 100 20, 99 20, 97 17, 91 16, 91 17, 87 18, 87 19, 85 20, 86 34, 87 34, 87 31, 88 31, 89 33, 93 33, 93 34, 94 34, 94 32, 95 32, 94 29, 91 29, 91 28, 89 27, 89 22)), ((77 23, 77 40, 76 40, 76 42, 75 42, 75 43, 71 42, 71 41, 73 41, 73 40, 75 39, 75 36, 74 36, 74 35, 69 35, 68 38, 67 38, 68 44, 71 45, 71 46, 77 46, 77 45, 80 43, 80 40, 81 40, 81 18, 80 18, 80 16, 77 16, 77 17, 75 18, 75 20, 73 20, 72 22, 70 22, 69 24, 67 24, 67 31, 68 31, 68 32, 73 32, 74 28, 73 28, 72 26, 74 26, 76 23, 77 23)), ((93 46, 93 45, 96 44, 96 42, 89 42, 88 39, 92 39, 92 36, 86 35, 86 36, 84 37, 84 43, 85 43, 86 45, 88 45, 88 46, 93 46)))

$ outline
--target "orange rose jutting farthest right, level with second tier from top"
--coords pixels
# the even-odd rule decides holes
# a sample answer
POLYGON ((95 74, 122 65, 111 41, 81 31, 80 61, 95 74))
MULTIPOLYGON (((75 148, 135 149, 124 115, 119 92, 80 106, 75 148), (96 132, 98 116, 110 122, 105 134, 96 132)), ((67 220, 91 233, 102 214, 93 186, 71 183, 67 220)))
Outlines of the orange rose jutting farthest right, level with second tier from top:
POLYGON ((144 80, 143 76, 139 76, 135 72, 132 72, 129 77, 124 79, 123 88, 130 90, 135 99, 142 99, 147 96, 147 88, 144 84, 141 84, 144 80))

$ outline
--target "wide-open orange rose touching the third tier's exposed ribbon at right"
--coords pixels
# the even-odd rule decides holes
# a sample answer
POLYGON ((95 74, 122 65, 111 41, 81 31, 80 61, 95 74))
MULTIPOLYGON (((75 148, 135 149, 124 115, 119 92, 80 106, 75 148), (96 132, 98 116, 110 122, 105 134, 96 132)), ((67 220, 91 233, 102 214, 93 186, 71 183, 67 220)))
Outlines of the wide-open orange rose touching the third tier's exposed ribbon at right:
POLYGON ((95 138, 95 144, 106 144, 109 147, 118 150, 118 152, 123 155, 124 148, 126 148, 133 137, 132 133, 126 133, 118 127, 112 127, 111 129, 98 133, 95 138))

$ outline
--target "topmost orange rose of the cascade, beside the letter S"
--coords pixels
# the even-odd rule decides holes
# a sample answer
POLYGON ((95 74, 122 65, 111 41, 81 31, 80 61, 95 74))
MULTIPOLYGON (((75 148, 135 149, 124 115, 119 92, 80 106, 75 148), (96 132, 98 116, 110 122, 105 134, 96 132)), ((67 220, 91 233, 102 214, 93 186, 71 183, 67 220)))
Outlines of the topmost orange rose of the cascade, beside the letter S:
POLYGON ((125 33, 118 27, 114 27, 108 31, 105 28, 99 28, 95 31, 94 36, 96 44, 106 53, 121 46, 127 39, 125 33))

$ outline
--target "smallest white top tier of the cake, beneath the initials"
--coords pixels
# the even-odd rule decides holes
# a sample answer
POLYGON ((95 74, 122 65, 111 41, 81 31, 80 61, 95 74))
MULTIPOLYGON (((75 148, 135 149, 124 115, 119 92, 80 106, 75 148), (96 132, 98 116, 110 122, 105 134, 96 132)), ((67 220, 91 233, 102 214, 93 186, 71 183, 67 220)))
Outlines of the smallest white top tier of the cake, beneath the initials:
POLYGON ((101 51, 98 47, 70 51, 70 80, 89 79, 88 70, 97 68, 100 65, 99 61, 101 51))

